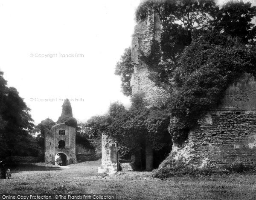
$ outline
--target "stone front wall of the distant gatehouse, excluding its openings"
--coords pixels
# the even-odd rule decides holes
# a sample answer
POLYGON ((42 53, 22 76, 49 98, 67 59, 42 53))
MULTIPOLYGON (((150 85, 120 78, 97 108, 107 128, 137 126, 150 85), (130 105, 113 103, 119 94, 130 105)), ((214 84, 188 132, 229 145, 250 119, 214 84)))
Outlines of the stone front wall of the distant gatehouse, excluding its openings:
POLYGON ((45 130, 45 163, 55 164, 55 156, 63 153, 67 156, 67 164, 76 163, 76 128, 64 123, 57 124, 51 130, 45 130), (59 135, 58 130, 65 130, 65 135, 59 135), (65 141, 64 148, 58 148, 58 142, 65 141))

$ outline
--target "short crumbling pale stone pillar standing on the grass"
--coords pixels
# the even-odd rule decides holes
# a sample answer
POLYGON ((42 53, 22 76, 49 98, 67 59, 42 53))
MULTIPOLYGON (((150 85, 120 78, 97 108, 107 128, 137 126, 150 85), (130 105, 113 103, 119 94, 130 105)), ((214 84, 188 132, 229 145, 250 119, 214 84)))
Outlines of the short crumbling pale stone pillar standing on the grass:
POLYGON ((102 165, 98 173, 114 174, 118 171, 116 142, 107 134, 102 134, 102 165))

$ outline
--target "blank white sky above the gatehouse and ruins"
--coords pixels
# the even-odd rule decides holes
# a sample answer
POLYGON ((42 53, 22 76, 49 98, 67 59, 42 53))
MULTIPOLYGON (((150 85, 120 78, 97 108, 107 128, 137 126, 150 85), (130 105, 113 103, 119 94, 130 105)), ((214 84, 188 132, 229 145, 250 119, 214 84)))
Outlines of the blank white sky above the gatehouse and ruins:
POLYGON ((8 86, 15 87, 24 98, 35 124, 47 117, 58 120, 63 103, 59 98, 71 99, 73 116, 82 121, 104 114, 111 102, 130 104, 114 69, 124 49, 131 45, 139 3, 0 0, 0 70, 8 86), (57 57, 35 57, 38 54, 57 57), (52 98, 55 101, 39 102, 52 98))

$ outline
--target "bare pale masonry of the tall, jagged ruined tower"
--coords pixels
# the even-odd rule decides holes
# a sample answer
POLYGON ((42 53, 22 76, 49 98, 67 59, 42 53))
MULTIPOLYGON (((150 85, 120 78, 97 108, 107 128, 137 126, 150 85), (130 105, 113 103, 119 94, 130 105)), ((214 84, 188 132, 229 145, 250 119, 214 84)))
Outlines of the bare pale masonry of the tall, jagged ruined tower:
POLYGON ((148 65, 140 57, 142 55, 148 56, 151 52, 153 39, 160 42, 160 37, 160 18, 149 8, 147 20, 138 23, 134 30, 131 50, 134 74, 131 77, 131 87, 132 94, 143 93, 150 106, 161 106, 162 103, 165 103, 167 93, 165 89, 156 86, 148 78, 150 72, 148 65))

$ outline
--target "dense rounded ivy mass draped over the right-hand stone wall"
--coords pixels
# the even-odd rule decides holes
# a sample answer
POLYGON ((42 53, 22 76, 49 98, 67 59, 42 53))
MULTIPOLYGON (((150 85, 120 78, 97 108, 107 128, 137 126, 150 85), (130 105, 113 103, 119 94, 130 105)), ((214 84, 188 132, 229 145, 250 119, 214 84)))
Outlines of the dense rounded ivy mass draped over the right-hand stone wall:
POLYGON ((186 138, 204 111, 220 103, 232 81, 243 72, 255 73, 255 49, 248 49, 230 36, 206 32, 185 48, 175 70, 171 88, 169 130, 174 142, 186 138))

